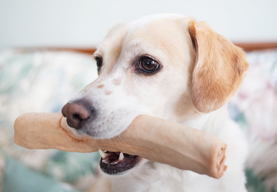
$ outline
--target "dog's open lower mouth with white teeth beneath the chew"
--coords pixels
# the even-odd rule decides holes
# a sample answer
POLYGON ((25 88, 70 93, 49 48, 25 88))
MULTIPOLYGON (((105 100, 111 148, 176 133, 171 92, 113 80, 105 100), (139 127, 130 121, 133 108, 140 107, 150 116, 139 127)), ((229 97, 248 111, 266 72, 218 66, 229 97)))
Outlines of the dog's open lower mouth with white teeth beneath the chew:
POLYGON ((101 155, 100 168, 109 175, 120 175, 134 168, 142 159, 138 155, 129 155, 122 152, 98 150, 101 155))

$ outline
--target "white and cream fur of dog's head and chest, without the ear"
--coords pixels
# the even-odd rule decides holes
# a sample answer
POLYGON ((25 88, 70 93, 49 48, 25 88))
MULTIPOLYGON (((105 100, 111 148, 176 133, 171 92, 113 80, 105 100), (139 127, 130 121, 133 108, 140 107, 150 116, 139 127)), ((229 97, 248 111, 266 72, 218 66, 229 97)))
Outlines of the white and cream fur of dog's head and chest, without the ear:
POLYGON ((179 15, 155 15, 115 27, 95 52, 103 57, 98 79, 74 100, 86 98, 95 104, 101 115, 94 122, 99 138, 119 135, 140 114, 172 120, 218 136, 227 143, 227 170, 220 179, 215 179, 143 160, 128 174, 110 179, 114 192, 246 191, 243 164, 247 144, 242 131, 230 119, 226 107, 204 114, 197 112, 191 103, 189 69, 194 66, 196 53, 187 32, 189 20, 179 15), (166 24, 160 24, 161 21, 166 24), (136 74, 130 62, 143 54, 154 55, 163 70, 153 76, 136 74), (115 85, 114 80, 120 83, 115 85), (111 93, 107 95, 106 91, 111 93), (188 100, 182 103, 184 98, 188 100), (182 114, 177 112, 179 109, 182 114))

